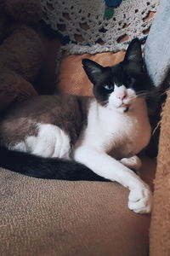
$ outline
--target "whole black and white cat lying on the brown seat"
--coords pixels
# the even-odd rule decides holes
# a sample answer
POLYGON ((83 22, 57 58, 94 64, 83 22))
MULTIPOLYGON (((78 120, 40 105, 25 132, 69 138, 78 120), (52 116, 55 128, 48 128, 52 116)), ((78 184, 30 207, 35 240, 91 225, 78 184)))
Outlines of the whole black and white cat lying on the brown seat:
POLYGON ((0 120, 0 166, 31 177, 116 181, 130 190, 133 212, 151 209, 151 192, 132 170, 150 142, 144 73, 138 39, 122 62, 102 67, 84 59, 94 97, 37 96, 15 104, 0 120))

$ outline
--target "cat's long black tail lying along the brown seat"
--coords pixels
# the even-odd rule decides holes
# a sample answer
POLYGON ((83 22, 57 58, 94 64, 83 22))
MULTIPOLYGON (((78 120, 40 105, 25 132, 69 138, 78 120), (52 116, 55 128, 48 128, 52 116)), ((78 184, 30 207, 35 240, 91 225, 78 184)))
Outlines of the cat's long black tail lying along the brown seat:
POLYGON ((0 166, 31 177, 71 181, 108 181, 74 160, 43 158, 7 148, 0 148, 0 166))

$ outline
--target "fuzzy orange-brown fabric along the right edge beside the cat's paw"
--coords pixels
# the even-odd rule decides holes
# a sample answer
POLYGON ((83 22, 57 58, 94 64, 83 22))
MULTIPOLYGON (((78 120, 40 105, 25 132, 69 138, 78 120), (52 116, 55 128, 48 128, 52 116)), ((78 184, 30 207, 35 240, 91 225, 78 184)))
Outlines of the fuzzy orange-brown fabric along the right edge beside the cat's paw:
POLYGON ((150 256, 170 255, 170 91, 162 110, 154 208, 150 225, 150 256))

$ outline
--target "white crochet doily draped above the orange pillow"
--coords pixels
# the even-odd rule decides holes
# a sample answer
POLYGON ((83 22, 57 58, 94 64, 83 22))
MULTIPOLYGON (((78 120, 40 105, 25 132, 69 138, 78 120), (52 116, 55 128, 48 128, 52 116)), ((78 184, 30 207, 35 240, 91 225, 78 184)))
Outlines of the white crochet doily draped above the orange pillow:
POLYGON ((42 0, 43 20, 70 38, 71 54, 126 49, 132 38, 144 38, 161 0, 122 0, 105 20, 104 0, 42 0), (122 43, 123 41, 123 43, 122 43))

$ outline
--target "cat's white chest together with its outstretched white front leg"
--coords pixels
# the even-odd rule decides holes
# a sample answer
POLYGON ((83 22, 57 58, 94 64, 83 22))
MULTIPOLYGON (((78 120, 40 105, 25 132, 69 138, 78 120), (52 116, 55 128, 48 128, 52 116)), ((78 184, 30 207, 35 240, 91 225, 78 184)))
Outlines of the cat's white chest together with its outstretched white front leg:
MULTIPOLYGON (((88 127, 77 141, 73 157, 99 176, 130 189, 128 207, 131 210, 150 212, 152 195, 149 186, 107 154, 112 148, 117 159, 130 158, 149 143, 150 122, 145 101, 137 98, 126 113, 119 111, 111 101, 106 108, 95 101, 91 103, 88 127)), ((132 159, 129 164, 132 165, 132 159)))

